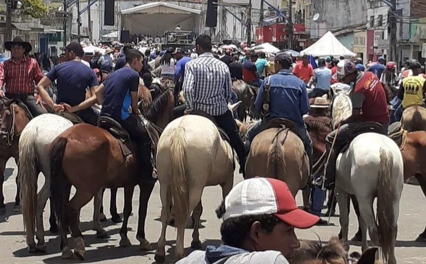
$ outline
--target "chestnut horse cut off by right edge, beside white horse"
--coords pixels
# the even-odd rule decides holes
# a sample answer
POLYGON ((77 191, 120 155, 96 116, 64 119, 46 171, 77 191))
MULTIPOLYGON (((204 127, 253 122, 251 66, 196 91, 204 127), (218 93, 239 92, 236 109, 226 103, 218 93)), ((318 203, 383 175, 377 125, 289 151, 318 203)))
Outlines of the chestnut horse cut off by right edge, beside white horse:
MULTIPOLYGON (((426 196, 426 164, 422 162, 426 155, 426 131, 407 132, 401 129, 389 137, 400 146, 404 161, 404 181, 414 176, 426 196)), ((426 227, 415 241, 426 242, 426 227)))

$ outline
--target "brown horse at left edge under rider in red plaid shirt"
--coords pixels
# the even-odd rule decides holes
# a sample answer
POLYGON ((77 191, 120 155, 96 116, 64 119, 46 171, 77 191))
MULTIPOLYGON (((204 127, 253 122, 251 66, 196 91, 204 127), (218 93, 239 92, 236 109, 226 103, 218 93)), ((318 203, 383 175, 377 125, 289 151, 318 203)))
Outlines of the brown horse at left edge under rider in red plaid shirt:
MULTIPOLYGON (((8 100, 8 98, 4 98, 0 101, 0 111, 0 210, 4 210, 6 205, 5 196, 3 194, 3 183, 5 181, 6 162, 9 158, 13 157, 15 162, 19 164, 19 136, 21 135, 24 127, 28 124, 30 118, 19 104, 13 103, 13 100, 8 100)), ((18 177, 16 177, 16 185, 17 190, 14 210, 20 211, 20 186, 18 183, 18 177)))

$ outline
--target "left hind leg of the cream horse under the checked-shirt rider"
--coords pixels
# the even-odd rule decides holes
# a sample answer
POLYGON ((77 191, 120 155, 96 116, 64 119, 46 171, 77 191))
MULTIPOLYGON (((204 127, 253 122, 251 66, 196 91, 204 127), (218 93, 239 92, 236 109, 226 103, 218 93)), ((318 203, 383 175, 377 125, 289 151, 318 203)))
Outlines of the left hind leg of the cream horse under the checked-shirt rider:
POLYGON ((160 183, 160 199, 161 199, 161 234, 157 242, 157 250, 155 251, 154 259, 159 263, 164 262, 166 245, 166 229, 167 222, 170 217, 171 193, 169 185, 160 183))

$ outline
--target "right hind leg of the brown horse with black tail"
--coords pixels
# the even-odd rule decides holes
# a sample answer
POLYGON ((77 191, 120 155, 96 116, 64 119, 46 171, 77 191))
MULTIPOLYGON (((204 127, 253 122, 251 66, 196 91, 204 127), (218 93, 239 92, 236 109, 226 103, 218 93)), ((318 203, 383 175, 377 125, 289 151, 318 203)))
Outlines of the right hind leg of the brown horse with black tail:
POLYGON ((66 219, 74 238, 74 253, 81 260, 84 260, 84 253, 86 252, 86 249, 84 248, 84 239, 79 226, 80 210, 83 206, 90 202, 93 196, 92 192, 83 192, 77 189, 76 194, 65 208, 66 219))

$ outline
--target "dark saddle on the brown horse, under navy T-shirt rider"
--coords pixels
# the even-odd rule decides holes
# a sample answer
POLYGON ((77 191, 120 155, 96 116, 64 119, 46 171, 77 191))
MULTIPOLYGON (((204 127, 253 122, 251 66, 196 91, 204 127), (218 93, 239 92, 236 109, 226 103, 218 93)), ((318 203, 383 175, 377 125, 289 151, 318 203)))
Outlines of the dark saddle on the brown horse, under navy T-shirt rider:
POLYGON ((123 156, 128 156, 133 153, 130 147, 129 134, 119 122, 108 116, 100 116, 97 119, 97 125, 98 127, 107 130, 114 138, 117 139, 123 156))

